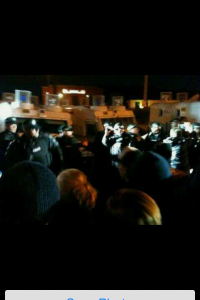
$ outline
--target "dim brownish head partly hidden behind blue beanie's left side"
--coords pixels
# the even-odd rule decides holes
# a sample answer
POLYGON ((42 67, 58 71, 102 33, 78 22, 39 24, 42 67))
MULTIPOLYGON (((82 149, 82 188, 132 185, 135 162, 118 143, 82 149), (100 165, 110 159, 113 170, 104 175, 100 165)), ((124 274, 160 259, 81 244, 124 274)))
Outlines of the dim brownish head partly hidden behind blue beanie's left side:
POLYGON ((119 156, 119 174, 125 181, 129 181, 129 170, 136 163, 137 159, 142 155, 138 149, 126 147, 119 156))

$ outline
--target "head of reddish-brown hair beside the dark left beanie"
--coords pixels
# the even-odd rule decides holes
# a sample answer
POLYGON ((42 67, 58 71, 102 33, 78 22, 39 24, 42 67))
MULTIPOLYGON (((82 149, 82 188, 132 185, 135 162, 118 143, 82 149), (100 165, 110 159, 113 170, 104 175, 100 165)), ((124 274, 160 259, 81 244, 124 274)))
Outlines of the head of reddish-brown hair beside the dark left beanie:
POLYGON ((68 169, 57 178, 61 199, 73 197, 79 207, 91 210, 96 205, 97 191, 88 182, 85 174, 76 169, 68 169))

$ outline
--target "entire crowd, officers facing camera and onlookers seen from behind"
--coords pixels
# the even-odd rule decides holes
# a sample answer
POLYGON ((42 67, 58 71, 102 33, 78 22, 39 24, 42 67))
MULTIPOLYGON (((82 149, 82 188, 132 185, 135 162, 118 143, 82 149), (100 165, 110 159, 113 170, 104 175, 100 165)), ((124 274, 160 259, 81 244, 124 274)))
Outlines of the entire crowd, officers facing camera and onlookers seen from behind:
POLYGON ((0 133, 0 221, 13 225, 101 226, 196 224, 200 186, 200 124, 179 119, 169 132, 154 122, 104 124, 87 174, 71 126, 57 138, 38 122, 8 118, 0 133))

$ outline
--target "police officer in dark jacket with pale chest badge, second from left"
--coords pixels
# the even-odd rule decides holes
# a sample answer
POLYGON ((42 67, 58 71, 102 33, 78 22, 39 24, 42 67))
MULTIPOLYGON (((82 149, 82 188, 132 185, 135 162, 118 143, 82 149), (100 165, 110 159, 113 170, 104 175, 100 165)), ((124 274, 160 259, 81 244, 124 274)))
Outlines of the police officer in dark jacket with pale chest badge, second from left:
POLYGON ((62 171, 62 151, 58 142, 40 133, 39 124, 34 119, 26 120, 23 125, 24 134, 8 148, 7 169, 21 161, 35 161, 59 174, 62 171))

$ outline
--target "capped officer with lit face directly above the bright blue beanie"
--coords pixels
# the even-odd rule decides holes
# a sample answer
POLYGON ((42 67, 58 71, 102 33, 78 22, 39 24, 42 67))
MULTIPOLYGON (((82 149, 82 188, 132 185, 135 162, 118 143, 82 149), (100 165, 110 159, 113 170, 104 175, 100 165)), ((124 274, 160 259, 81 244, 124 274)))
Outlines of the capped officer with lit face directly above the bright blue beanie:
POLYGON ((154 122, 150 128, 151 132, 144 136, 146 151, 151 151, 157 143, 163 142, 166 138, 160 123, 154 122))

